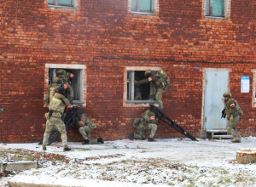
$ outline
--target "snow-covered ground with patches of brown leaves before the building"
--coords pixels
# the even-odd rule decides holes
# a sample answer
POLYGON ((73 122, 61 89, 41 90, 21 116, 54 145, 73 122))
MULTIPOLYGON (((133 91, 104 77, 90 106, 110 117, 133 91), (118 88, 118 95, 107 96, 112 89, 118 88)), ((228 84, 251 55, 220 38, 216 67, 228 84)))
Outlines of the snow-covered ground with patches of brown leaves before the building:
MULTIPOLYGON (((23 179, 29 176, 32 178, 30 182, 35 183, 37 178, 45 178, 45 183, 50 181, 49 178, 51 181, 62 178, 62 184, 67 185, 65 181, 72 178, 77 179, 72 181, 94 181, 104 187, 115 186, 111 185, 115 182, 123 182, 126 186, 131 183, 134 186, 256 186, 256 164, 236 162, 236 151, 255 148, 255 143, 253 137, 242 138, 241 144, 230 143, 230 139, 199 139, 198 142, 190 139, 157 139, 157 142, 126 139, 94 145, 69 143, 72 151, 63 151, 61 142, 48 146, 46 151, 38 144, 0 144, 0 162, 39 161, 40 168, 15 175, 15 178, 23 179)), ((11 178, 0 178, 0 186, 8 186, 11 178)))

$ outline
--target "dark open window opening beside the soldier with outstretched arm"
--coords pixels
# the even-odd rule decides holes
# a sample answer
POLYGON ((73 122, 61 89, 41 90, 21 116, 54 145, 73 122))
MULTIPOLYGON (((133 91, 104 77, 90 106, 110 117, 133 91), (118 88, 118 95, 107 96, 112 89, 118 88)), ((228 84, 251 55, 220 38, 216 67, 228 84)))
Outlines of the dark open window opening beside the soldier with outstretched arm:
POLYGON ((136 102, 143 103, 147 101, 147 103, 154 102, 154 98, 151 96, 153 94, 152 90, 152 82, 148 82, 142 84, 140 86, 134 85, 134 80, 140 81, 145 78, 145 71, 127 71, 127 94, 126 100, 127 102, 136 102), (149 97, 150 96, 150 97, 149 97))

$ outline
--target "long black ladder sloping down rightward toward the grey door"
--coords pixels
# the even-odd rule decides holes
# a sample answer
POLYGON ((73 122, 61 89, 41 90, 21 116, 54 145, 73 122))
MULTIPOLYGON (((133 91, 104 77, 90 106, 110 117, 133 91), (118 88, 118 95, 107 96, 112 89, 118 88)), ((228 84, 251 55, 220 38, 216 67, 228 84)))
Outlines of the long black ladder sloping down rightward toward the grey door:
POLYGON ((189 139, 191 139, 193 141, 198 141, 190 133, 186 132, 183 129, 183 127, 180 127, 176 122, 173 122, 172 119, 170 117, 166 116, 166 114, 164 114, 164 112, 160 111, 159 108, 157 108, 154 105, 150 105, 150 106, 151 106, 151 108, 149 109, 149 111, 154 112, 155 116, 158 117, 162 122, 165 122, 167 125, 173 127, 175 130, 177 130, 179 133, 182 133, 189 139))

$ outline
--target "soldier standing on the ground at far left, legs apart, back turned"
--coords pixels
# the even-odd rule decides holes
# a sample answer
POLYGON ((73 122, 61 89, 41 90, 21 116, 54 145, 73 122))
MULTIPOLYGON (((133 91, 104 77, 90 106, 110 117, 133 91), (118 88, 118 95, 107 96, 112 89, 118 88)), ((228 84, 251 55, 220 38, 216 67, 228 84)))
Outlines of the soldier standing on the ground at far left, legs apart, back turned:
POLYGON ((67 113, 70 109, 70 103, 64 96, 65 90, 62 87, 56 88, 51 91, 49 96, 49 112, 45 114, 47 118, 44 140, 43 140, 43 150, 46 150, 46 144, 49 140, 49 134, 54 127, 57 127, 61 133, 61 140, 64 146, 64 150, 71 150, 67 146, 67 131, 66 126, 62 120, 63 113, 67 113), (66 108, 67 107, 67 108, 66 108))

